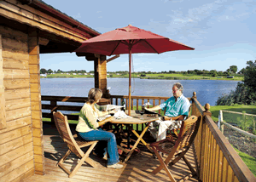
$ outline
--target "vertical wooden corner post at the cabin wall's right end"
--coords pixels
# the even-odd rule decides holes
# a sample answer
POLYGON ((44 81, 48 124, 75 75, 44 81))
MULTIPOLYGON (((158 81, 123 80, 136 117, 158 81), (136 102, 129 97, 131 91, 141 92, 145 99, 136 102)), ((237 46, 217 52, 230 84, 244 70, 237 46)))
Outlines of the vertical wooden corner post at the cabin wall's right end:
MULTIPOLYGON (((45 41, 45 40, 44 40, 45 41)), ((38 30, 30 28, 28 30, 28 53, 29 53, 29 75, 30 75, 30 99, 33 105, 41 104, 40 88, 40 58, 39 58, 38 30), (37 82, 34 82, 34 79, 37 82)), ((47 41, 46 41, 47 42, 47 41)), ((41 107, 32 107, 32 139, 37 141, 33 145, 35 173, 44 175, 44 145, 43 145, 43 122, 41 107)))

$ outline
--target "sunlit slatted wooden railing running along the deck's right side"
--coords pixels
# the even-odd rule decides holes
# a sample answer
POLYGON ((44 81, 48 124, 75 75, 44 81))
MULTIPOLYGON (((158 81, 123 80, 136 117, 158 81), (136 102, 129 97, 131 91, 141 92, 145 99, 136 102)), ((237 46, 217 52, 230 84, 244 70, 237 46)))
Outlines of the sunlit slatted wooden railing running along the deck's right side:
POLYGON ((195 137, 195 159, 201 181, 256 181, 253 173, 241 160, 230 142, 212 120, 210 105, 202 107, 192 98, 192 115, 201 118, 195 137))

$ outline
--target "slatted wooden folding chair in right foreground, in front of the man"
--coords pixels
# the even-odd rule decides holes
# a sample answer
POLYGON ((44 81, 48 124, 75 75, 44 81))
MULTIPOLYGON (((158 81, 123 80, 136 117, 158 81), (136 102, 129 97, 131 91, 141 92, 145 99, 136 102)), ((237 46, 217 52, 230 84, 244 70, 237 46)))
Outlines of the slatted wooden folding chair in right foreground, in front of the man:
POLYGON ((172 180, 172 182, 174 182, 176 180, 173 178, 172 173, 167 165, 169 164, 169 166, 172 166, 181 158, 183 158, 183 161, 187 164, 189 170, 192 172, 192 175, 190 176, 197 174, 184 155, 187 151, 189 151, 190 145, 192 145, 194 142, 199 125, 200 119, 198 117, 189 117, 185 121, 182 121, 182 126, 178 136, 173 134, 173 137, 169 136, 170 138, 162 139, 150 144, 155 155, 160 161, 160 166, 154 169, 152 173, 158 173, 162 168, 164 168, 169 178, 172 180), (165 161, 162 156, 160 156, 159 152, 163 152, 168 155, 165 161))

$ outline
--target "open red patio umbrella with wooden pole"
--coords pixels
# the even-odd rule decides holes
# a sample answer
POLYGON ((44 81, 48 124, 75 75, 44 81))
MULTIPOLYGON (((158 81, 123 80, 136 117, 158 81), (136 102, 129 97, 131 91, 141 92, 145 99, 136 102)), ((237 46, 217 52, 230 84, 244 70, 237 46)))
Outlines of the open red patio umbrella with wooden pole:
POLYGON ((183 43, 145 31, 135 26, 125 26, 108 31, 82 43, 74 52, 103 55, 129 54, 129 100, 128 115, 131 114, 131 53, 164 53, 174 50, 194 50, 183 43))

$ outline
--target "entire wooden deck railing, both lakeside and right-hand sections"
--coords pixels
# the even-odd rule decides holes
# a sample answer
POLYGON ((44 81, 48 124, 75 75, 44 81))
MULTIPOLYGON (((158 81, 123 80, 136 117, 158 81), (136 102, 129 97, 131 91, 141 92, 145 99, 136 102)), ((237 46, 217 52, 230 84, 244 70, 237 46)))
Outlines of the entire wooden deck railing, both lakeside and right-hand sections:
MULTIPOLYGON (((84 97, 61 97, 61 96, 42 96, 42 101, 49 101, 49 104, 43 104, 42 109, 49 110, 50 113, 43 112, 43 117, 52 118, 53 111, 80 111, 84 97), (68 105, 68 103, 79 103, 80 105, 68 105), (61 105, 66 103, 67 105, 61 105)), ((120 105, 125 100, 127 105, 127 95, 111 95, 111 103, 120 105)), ((159 105, 167 100, 168 97, 148 97, 148 96, 131 96, 131 109, 139 109, 139 105, 150 102, 153 106, 159 105)), ((253 173, 242 162, 229 141, 218 129, 215 122, 212 121, 210 105, 202 107, 196 100, 194 93, 192 98, 192 115, 201 119, 201 125, 197 136, 195 137, 195 161, 199 179, 201 181, 256 181, 253 173)), ((127 107, 126 107, 127 109, 127 107)), ((68 120, 78 120, 79 116, 65 114, 68 120)), ((52 120, 53 121, 53 120, 52 120)), ((139 132, 137 126, 137 131, 139 132)), ((143 126, 142 126, 143 128, 143 126)), ((141 130, 141 129, 140 129, 141 130)))

